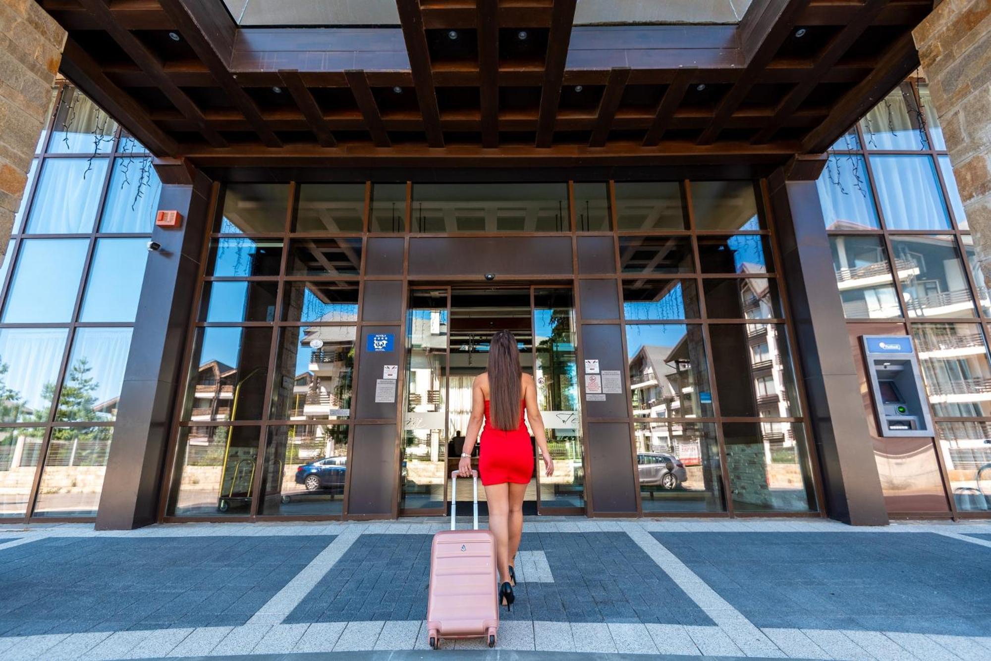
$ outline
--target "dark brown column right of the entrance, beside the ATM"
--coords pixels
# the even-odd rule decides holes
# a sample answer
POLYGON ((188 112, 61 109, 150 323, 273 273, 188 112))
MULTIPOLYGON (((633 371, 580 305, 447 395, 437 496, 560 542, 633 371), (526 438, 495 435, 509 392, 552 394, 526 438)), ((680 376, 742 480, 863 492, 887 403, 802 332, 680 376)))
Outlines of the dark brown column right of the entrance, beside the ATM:
POLYGON ((797 157, 769 178, 771 207, 788 283, 826 513, 852 525, 884 525, 881 491, 860 380, 835 285, 816 179, 826 156, 797 157))

